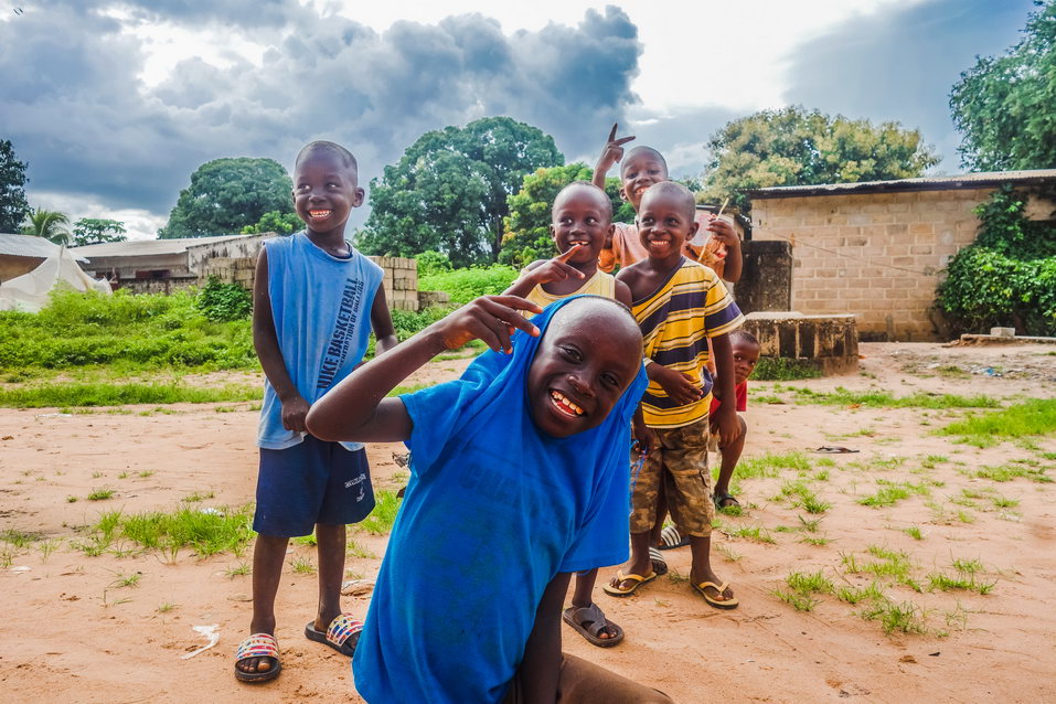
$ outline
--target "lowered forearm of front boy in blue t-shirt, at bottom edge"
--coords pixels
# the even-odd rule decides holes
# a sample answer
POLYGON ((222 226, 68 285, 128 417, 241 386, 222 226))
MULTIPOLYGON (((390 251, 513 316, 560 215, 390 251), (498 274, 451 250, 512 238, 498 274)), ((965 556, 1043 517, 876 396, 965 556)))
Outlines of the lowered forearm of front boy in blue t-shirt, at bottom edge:
POLYGON ((526 704, 554 704, 561 676, 561 609, 568 591, 570 573, 558 573, 543 591, 535 609, 535 626, 518 668, 526 704))

